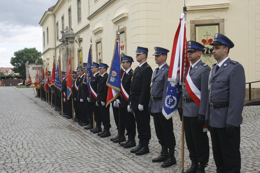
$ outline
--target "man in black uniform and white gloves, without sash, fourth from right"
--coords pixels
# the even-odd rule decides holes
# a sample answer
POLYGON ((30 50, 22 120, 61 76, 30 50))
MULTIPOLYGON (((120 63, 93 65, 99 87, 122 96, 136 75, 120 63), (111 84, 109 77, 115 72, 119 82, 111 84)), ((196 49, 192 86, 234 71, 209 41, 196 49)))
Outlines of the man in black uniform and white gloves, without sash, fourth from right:
POLYGON ((128 102, 128 111, 134 110, 139 144, 130 152, 136 155, 143 155, 150 152, 148 144, 151 139, 151 128, 148 105, 150 101, 150 83, 153 70, 146 62, 148 48, 137 47, 135 54, 136 61, 139 62, 140 65, 135 68, 133 73, 130 85, 131 95, 128 102))

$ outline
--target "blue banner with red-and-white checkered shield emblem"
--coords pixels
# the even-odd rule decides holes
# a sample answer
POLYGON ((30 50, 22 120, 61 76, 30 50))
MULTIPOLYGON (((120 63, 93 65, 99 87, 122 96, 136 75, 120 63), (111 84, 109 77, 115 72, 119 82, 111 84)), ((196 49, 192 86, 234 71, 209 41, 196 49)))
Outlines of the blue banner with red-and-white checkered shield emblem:
POLYGON ((121 85, 121 61, 120 61, 120 40, 116 39, 114 55, 111 62, 109 76, 107 78, 107 106, 120 94, 121 85))

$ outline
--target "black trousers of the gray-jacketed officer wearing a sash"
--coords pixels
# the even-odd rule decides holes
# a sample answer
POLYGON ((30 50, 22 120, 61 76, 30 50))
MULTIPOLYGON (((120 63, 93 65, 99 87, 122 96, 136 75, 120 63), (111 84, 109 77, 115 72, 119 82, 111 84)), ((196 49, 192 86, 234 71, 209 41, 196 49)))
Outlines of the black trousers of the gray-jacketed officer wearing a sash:
POLYGON ((184 116, 184 131, 190 160, 208 163, 209 143, 207 132, 198 124, 198 117, 184 116))

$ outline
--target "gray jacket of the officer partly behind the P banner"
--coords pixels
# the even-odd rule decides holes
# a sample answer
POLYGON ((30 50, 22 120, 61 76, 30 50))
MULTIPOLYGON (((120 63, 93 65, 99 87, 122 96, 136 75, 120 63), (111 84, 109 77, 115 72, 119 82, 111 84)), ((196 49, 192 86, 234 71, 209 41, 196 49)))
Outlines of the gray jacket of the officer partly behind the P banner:
MULTIPOLYGON (((159 68, 159 67, 158 67, 159 68)), ((162 111, 163 100, 165 98, 167 86, 168 86, 168 64, 164 64, 162 68, 156 73, 156 70, 153 72, 152 77, 152 87, 151 87, 151 98, 149 102, 149 108, 151 108, 152 113, 158 113, 162 111), (152 97, 163 96, 161 100, 152 101, 152 97)))

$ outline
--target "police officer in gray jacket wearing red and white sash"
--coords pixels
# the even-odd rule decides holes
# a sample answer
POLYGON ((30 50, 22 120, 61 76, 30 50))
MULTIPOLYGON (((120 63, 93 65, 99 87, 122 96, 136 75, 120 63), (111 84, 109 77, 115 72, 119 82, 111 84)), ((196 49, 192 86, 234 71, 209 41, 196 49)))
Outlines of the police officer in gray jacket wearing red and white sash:
POLYGON ((207 108, 208 76, 211 68, 200 59, 204 45, 196 41, 188 41, 187 45, 187 57, 191 65, 186 69, 183 79, 184 89, 181 93, 184 102, 183 111, 182 97, 179 99, 178 110, 180 116, 182 114, 184 116, 186 144, 190 152, 191 167, 186 172, 196 173, 197 171, 205 172, 209 159, 207 129, 203 130, 203 126, 207 108))

